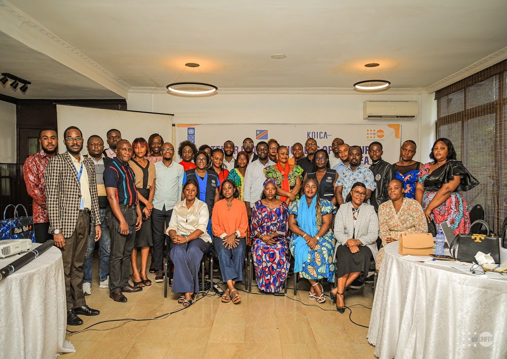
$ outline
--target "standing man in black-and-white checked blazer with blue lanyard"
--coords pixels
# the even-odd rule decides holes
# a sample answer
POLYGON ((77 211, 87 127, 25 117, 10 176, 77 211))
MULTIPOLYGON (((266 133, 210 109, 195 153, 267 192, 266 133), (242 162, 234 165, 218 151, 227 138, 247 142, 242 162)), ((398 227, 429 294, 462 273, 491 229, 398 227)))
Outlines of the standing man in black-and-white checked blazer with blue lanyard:
POLYGON ((95 227, 95 241, 101 234, 93 162, 81 155, 83 134, 70 126, 63 132, 67 152, 49 161, 46 170, 47 205, 50 230, 55 245, 61 249, 67 325, 79 326, 78 314, 97 315, 100 312, 86 305, 83 294, 83 262, 90 223, 95 227), (91 217, 91 218, 90 218, 91 217))

